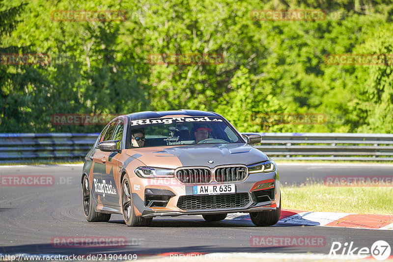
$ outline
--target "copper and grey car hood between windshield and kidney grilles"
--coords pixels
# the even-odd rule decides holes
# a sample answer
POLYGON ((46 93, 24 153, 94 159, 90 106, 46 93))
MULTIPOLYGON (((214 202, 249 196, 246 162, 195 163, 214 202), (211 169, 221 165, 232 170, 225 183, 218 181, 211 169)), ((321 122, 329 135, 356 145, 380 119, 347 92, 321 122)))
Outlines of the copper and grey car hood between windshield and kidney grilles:
POLYGON ((215 167, 225 164, 254 164, 268 157, 248 144, 203 144, 129 149, 129 156, 146 166, 177 168, 180 166, 215 167), (208 163, 213 160, 213 163, 208 163))

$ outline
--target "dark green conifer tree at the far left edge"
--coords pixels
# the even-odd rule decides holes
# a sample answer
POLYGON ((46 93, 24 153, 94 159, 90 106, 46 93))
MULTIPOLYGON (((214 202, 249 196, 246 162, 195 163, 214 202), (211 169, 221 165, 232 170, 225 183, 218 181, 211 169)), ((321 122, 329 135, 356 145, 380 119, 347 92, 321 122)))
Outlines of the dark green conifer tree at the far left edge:
MULTIPOLYGON (((18 60, 21 57, 34 60, 33 47, 12 45, 15 42, 6 39, 21 22, 25 7, 26 3, 21 3, 7 8, 0 2, 0 132, 34 129, 37 123, 32 101, 37 92, 46 91, 46 78, 39 70, 44 63, 29 65, 24 62, 27 60, 18 60)), ((45 59, 44 55, 41 57, 45 59)))

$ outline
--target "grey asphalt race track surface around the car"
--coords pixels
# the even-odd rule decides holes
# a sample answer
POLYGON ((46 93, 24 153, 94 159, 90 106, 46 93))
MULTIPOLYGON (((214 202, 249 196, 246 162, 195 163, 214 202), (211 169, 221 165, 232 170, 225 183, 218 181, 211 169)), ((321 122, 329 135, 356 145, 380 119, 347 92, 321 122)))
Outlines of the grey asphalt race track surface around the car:
MULTIPOLYGON (((388 164, 279 164, 281 183, 323 180, 327 175, 392 175, 388 164)), ((121 215, 110 222, 84 219, 81 192, 82 165, 0 166, 5 175, 53 175, 51 186, 0 186, 0 253, 2 254, 138 254, 167 252, 280 252, 328 254, 332 242, 353 241, 368 247, 385 240, 393 247, 393 231, 283 226, 258 228, 250 220, 206 222, 201 216, 155 218, 151 227, 129 228, 121 215), (56 246, 63 236, 125 237, 126 245, 106 247, 56 246), (320 247, 255 247, 251 236, 324 236, 320 247)))

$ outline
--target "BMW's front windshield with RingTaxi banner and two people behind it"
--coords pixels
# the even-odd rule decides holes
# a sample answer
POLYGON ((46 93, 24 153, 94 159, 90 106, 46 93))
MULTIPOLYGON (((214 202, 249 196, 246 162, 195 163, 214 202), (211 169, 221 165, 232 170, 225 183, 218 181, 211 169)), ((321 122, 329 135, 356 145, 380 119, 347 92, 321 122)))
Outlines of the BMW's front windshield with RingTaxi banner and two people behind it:
POLYGON ((220 117, 168 117, 130 121, 129 148, 244 143, 220 117), (143 145, 135 143, 145 138, 143 145), (140 139, 140 138, 137 138, 140 139))

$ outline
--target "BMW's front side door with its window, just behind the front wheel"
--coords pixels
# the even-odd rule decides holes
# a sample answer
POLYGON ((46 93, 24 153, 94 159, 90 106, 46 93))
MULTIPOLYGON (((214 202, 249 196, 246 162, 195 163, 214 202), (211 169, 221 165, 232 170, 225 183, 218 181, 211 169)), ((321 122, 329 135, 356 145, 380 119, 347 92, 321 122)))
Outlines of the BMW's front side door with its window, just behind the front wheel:
MULTIPOLYGON (((123 136, 123 120, 118 120, 116 127, 114 128, 112 138, 110 140, 120 140, 117 142, 116 149, 121 149, 121 142, 123 136)), ((101 179, 106 183, 108 192, 106 192, 102 203, 110 206, 119 206, 119 192, 117 188, 120 188, 120 185, 116 186, 116 181, 118 181, 120 167, 118 167, 117 159, 120 157, 119 152, 106 152, 110 153, 106 159, 105 169, 101 172, 101 179)))

